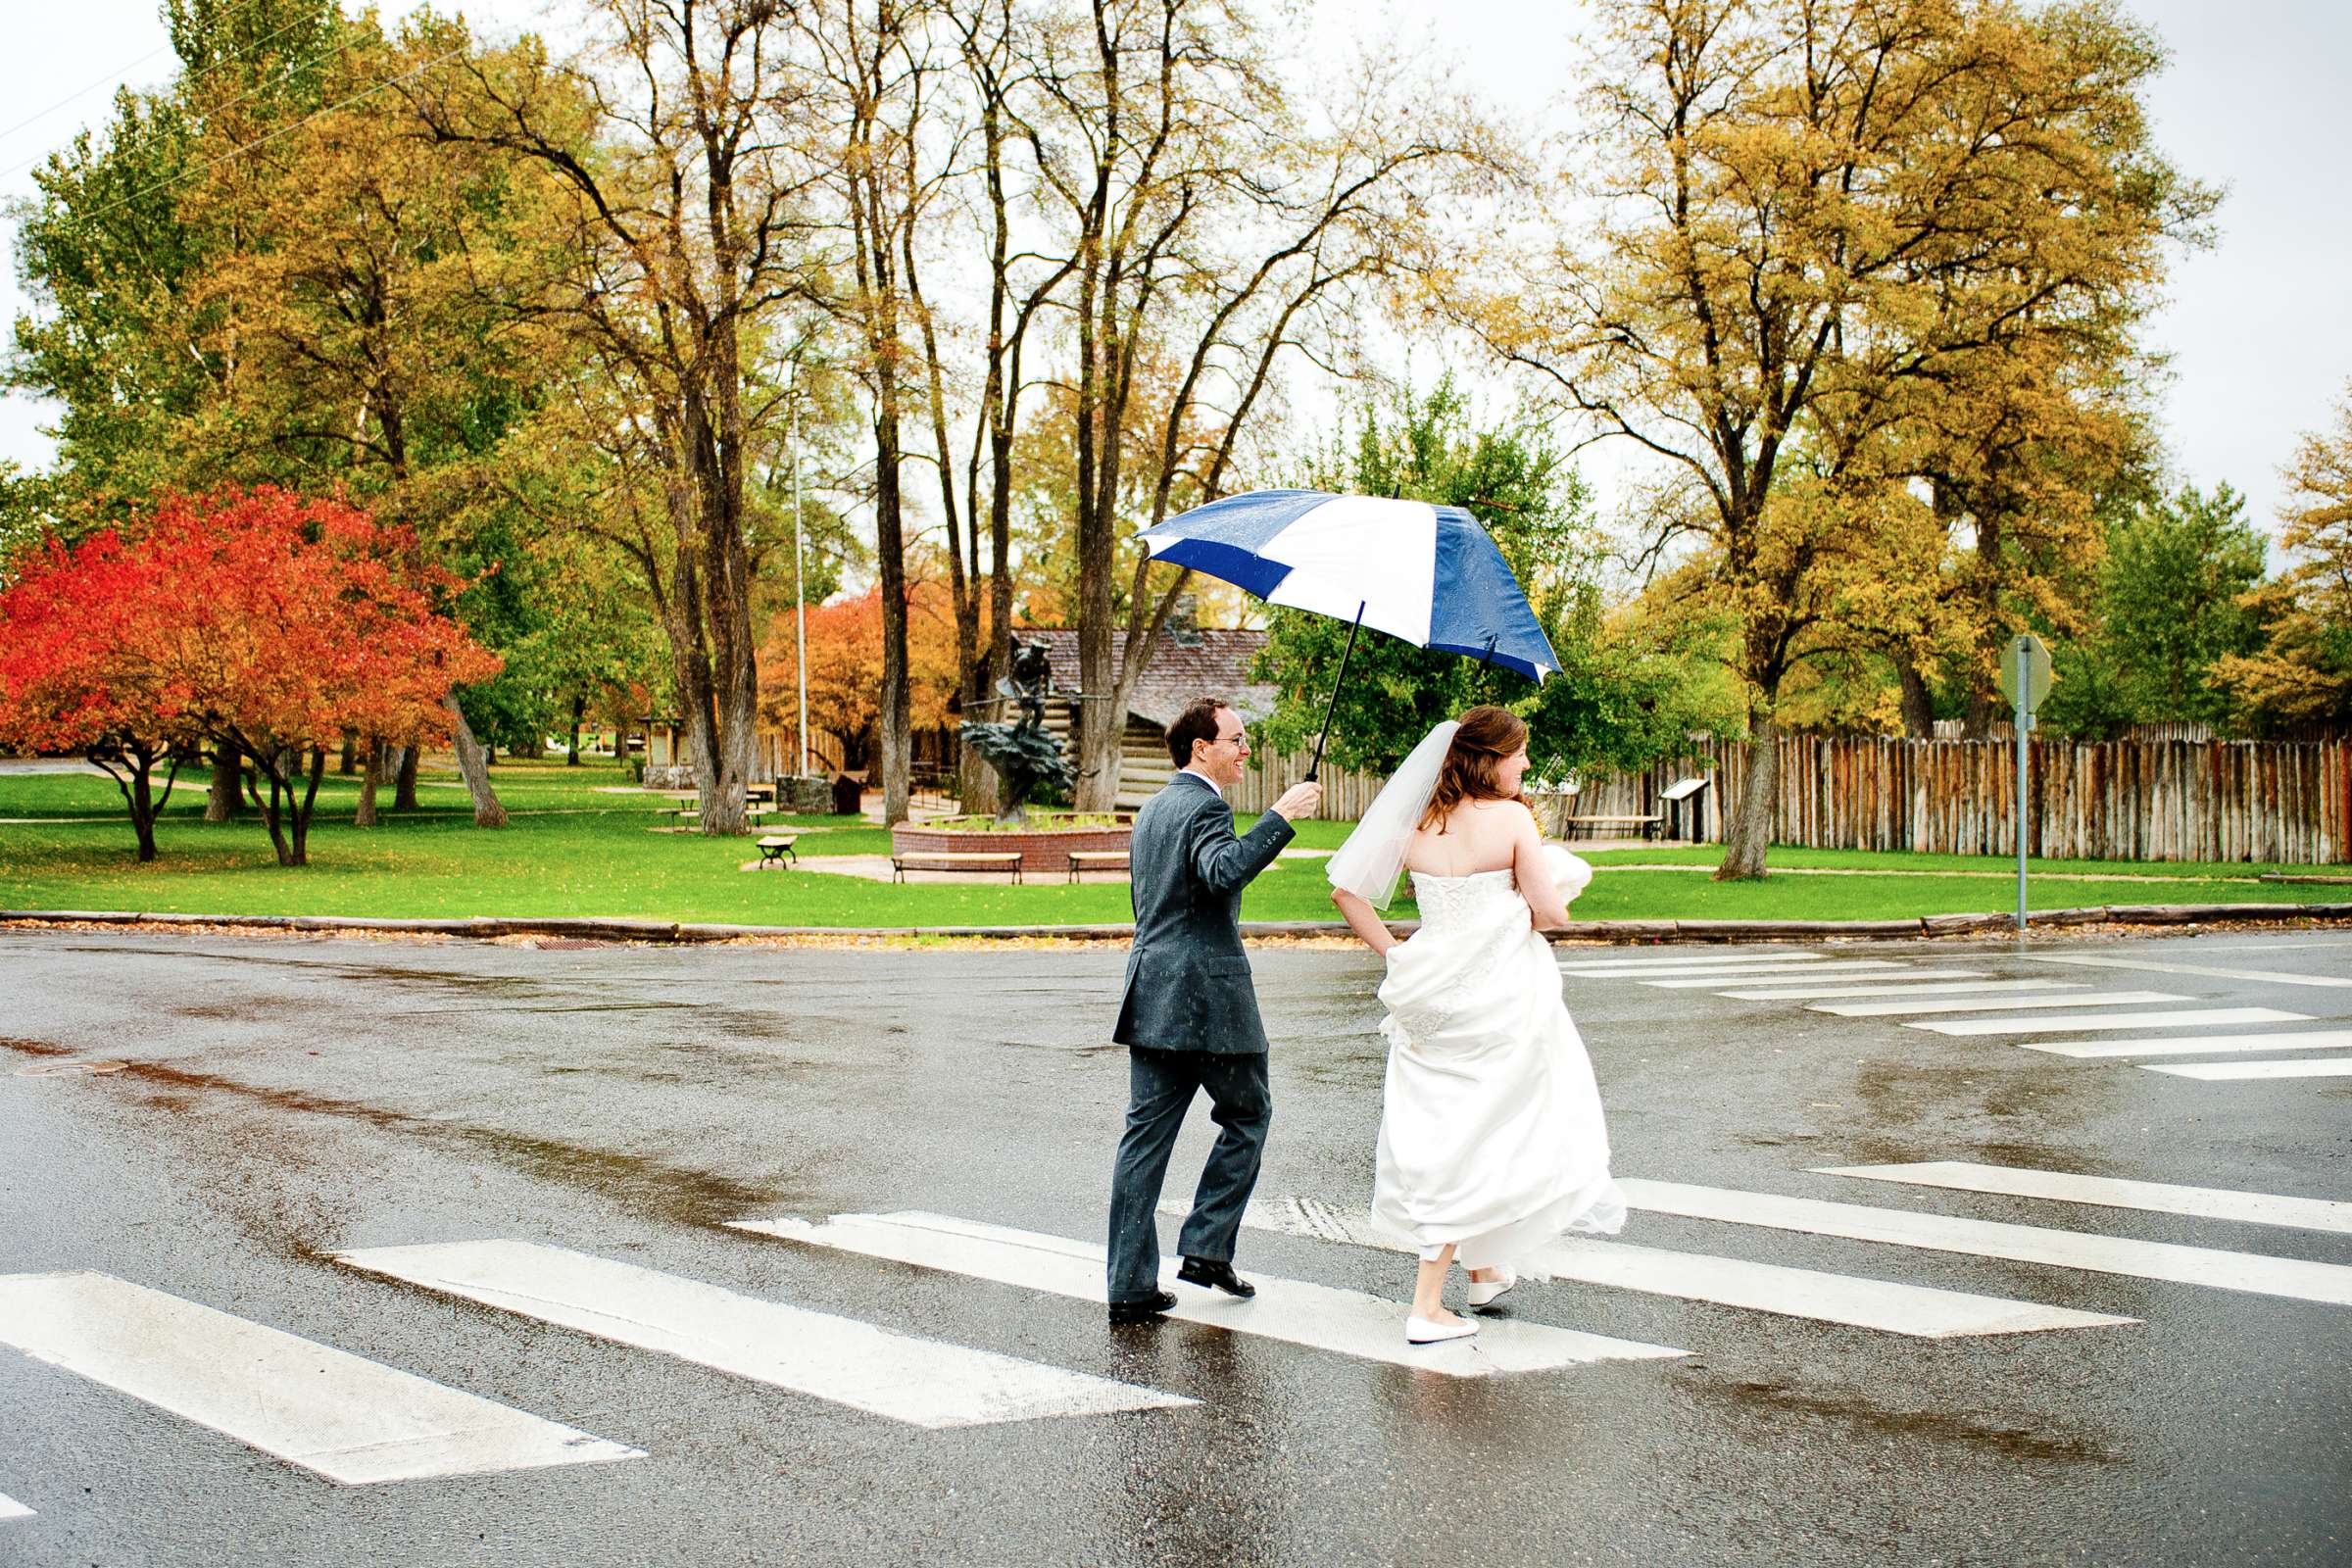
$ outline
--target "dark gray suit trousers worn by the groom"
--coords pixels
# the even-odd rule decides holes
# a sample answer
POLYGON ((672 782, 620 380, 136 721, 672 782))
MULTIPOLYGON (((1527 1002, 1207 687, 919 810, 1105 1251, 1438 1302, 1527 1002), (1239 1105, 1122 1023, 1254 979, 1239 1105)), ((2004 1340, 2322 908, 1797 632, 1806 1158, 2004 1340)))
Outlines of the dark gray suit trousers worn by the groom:
POLYGON ((1192 1194, 1192 1215, 1183 1222, 1178 1251, 1185 1258, 1232 1262, 1232 1244, 1242 1229, 1242 1208, 1258 1185, 1258 1159, 1265 1154, 1265 1128, 1275 1119, 1275 1098, 1265 1081, 1263 1051, 1152 1051, 1129 1053, 1127 1133, 1120 1138, 1120 1161, 1110 1173, 1110 1300, 1148 1300, 1160 1288, 1160 1185, 1167 1180, 1169 1152, 1192 1107, 1192 1095, 1209 1091, 1209 1117, 1221 1128, 1209 1164, 1202 1166, 1192 1194))

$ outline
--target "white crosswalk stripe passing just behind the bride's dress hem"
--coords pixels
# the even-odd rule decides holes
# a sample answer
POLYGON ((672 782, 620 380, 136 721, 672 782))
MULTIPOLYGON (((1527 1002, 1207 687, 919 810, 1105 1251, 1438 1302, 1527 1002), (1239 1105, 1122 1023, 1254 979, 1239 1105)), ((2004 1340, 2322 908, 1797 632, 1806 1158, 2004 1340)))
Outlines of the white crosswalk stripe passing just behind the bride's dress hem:
MULTIPOLYGON (((1181 1208, 1181 1206, 1178 1206, 1181 1208)), ((1242 1218, 1256 1229, 1289 1237, 1317 1237, 1348 1246, 1414 1251, 1374 1225, 1371 1211, 1338 1208, 1317 1199, 1268 1199, 1251 1204, 1242 1218)), ((2039 1302, 1905 1286, 1858 1274, 1792 1269, 1778 1262, 1672 1253, 1658 1246, 1562 1237, 1543 1248, 1536 1269, 1552 1279, 1576 1279, 1618 1291, 1672 1295, 1679 1300, 1743 1307, 1778 1316, 1849 1324, 1924 1340, 1952 1340, 1987 1333, 2042 1333, 2051 1328, 2105 1328, 2136 1324, 2129 1316, 2044 1307, 2039 1302)))

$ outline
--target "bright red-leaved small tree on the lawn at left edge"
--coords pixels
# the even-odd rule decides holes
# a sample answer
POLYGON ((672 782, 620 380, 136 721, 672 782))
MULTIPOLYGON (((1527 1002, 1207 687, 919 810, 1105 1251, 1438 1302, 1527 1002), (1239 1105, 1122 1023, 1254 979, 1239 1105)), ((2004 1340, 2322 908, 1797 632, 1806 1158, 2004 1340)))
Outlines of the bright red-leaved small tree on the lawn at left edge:
MULTIPOLYGON (((496 675, 499 658, 440 614, 454 588, 407 531, 343 501, 167 498, 136 538, 52 550, 0 595, 0 731, 132 757, 120 736, 148 750, 226 741, 268 780, 278 863, 303 865, 329 743, 346 729, 440 736, 449 689, 496 675), (19 623, 35 632, 21 656, 19 623)), ((125 785, 153 858, 139 792, 125 785)))

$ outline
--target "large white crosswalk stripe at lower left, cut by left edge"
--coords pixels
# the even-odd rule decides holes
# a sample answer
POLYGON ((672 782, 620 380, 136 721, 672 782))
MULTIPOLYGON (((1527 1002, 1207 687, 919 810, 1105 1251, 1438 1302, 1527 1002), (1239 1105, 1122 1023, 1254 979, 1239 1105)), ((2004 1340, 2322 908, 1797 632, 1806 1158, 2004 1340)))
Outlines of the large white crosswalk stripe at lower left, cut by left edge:
POLYGON ((0 1345, 346 1486, 642 1458, 108 1274, 0 1276, 0 1345))

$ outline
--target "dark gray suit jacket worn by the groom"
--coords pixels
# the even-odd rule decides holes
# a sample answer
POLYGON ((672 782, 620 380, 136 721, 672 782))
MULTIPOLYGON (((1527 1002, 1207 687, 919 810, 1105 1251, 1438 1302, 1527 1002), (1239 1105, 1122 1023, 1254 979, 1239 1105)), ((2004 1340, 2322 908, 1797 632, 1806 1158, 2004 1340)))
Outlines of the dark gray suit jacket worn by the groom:
POLYGON ((1242 889, 1298 830, 1268 811, 1249 837, 1200 773, 1176 773, 1136 813, 1127 846, 1136 945, 1120 997, 1122 1046, 1265 1051, 1258 992, 1242 952, 1242 889))

